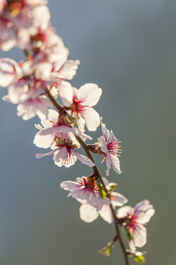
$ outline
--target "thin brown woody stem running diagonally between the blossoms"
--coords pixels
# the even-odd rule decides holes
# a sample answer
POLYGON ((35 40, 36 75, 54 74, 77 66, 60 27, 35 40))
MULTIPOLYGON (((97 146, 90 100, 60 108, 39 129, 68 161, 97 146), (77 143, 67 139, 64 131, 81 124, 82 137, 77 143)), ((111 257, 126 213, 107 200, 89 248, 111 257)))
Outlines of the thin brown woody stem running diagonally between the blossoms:
MULTIPOLYGON (((48 95, 49 99, 52 101, 52 103, 53 103, 54 107, 57 109, 57 111, 58 112, 62 111, 63 110, 63 107, 53 98, 53 96, 50 93, 50 91, 47 88, 44 88, 44 91, 48 95)), ((78 136, 76 136, 76 140, 80 143, 80 145, 82 146, 82 148, 86 152, 87 157, 95 164, 94 158, 92 157, 92 154, 90 152, 90 149, 87 147, 87 144, 85 144, 85 142, 80 137, 78 137, 78 136)), ((93 166, 93 170, 94 170, 94 174, 96 176, 98 176, 99 181, 100 181, 103 189, 105 190, 105 192, 107 194, 107 197, 110 199, 109 194, 108 194, 108 191, 107 191, 107 189, 105 187, 105 184, 103 182, 102 176, 101 176, 101 174, 100 174, 100 172, 99 172, 98 167, 96 166, 96 164, 95 164, 95 166, 93 166)), ((113 209, 112 204, 110 204, 110 209, 111 209, 111 212, 112 212, 112 215, 113 215, 113 218, 114 218, 116 235, 118 236, 118 239, 119 239, 119 242, 120 242, 122 251, 123 251, 123 255, 124 255, 124 259, 125 259, 125 264, 126 265, 129 265, 129 262, 128 262, 128 253, 125 251, 125 246, 123 244, 122 236, 121 236, 120 229, 119 229, 118 219, 116 217, 115 210, 113 209)))

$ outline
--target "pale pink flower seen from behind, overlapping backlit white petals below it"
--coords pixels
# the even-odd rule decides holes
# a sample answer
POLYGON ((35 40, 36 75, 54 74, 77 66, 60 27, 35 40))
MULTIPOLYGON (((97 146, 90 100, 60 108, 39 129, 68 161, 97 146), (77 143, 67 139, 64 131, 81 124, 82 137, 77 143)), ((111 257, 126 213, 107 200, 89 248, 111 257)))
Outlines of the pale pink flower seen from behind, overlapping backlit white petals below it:
POLYGON ((62 189, 71 191, 67 197, 72 196, 80 200, 86 200, 89 205, 96 208, 96 211, 100 211, 103 207, 103 203, 110 204, 110 200, 106 197, 102 199, 98 190, 98 186, 94 178, 81 177, 75 181, 63 181, 60 184, 62 189))

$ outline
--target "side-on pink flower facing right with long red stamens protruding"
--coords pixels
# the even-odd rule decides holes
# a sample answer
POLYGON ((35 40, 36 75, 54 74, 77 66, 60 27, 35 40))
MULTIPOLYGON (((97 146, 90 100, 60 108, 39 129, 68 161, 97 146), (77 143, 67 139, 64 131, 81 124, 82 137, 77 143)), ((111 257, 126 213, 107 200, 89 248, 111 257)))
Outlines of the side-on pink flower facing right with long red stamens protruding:
POLYGON ((109 176, 109 169, 111 168, 111 164, 113 166, 113 169, 118 174, 122 173, 120 170, 120 162, 118 159, 119 151, 122 151, 118 143, 121 143, 119 140, 117 140, 113 134, 113 131, 111 130, 111 133, 109 134, 109 130, 106 129, 105 124, 102 123, 102 117, 101 117, 101 127, 103 136, 100 136, 98 139, 98 146, 101 148, 101 150, 98 152, 98 154, 104 154, 103 159, 101 162, 103 163, 104 159, 106 158, 106 175, 109 176), (107 143, 109 140, 109 143, 107 143))

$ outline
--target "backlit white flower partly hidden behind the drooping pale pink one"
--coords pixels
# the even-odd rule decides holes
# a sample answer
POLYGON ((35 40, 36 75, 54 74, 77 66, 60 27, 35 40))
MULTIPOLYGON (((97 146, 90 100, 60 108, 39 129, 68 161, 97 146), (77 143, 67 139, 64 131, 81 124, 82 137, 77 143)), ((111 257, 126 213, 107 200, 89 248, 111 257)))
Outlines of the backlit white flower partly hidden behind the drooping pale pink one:
MULTIPOLYGON (((106 188, 108 188, 109 181, 106 178, 103 178, 103 182, 106 185, 106 188)), ((108 193, 111 199, 110 200, 111 204, 114 209, 115 206, 120 207, 128 202, 128 199, 118 192, 111 191, 108 193)), ((109 205, 104 203, 101 210, 96 211, 96 209, 90 206, 86 200, 77 199, 77 201, 79 201, 82 204, 80 206, 80 218, 84 222, 90 223, 96 220, 99 217, 99 215, 101 218, 103 218, 103 220, 105 220, 109 224, 113 222, 114 219, 109 205)))

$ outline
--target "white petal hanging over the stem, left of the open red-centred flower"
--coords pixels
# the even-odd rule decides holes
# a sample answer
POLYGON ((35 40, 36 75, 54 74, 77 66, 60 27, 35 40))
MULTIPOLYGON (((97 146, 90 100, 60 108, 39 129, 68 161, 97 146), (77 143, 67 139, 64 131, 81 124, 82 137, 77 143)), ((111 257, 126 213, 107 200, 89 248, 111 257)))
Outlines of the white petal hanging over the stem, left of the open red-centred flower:
POLYGON ((71 84, 68 83, 67 81, 62 81, 58 89, 59 89, 59 97, 62 101, 62 104, 65 107, 70 107, 70 105, 73 103, 73 89, 71 84))

